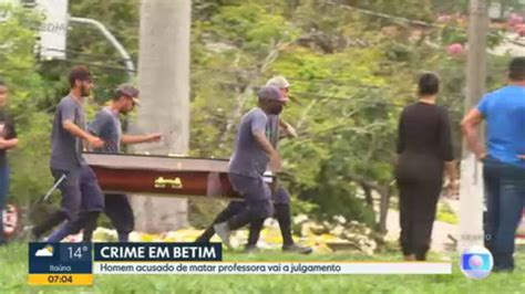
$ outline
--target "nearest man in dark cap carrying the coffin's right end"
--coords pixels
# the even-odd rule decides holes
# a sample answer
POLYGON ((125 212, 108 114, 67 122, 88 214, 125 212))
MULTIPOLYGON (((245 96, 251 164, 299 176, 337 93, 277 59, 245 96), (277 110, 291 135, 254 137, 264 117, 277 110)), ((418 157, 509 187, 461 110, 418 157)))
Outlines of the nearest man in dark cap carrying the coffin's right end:
POLYGON ((258 93, 258 106, 246 113, 239 125, 234 155, 229 161, 229 180, 234 189, 245 198, 245 206, 225 222, 214 225, 215 232, 230 248, 229 237, 248 223, 262 223, 271 216, 271 191, 264 180, 270 170, 281 168, 279 154, 267 138, 268 115, 278 115, 286 102, 279 90, 262 87, 258 93))

